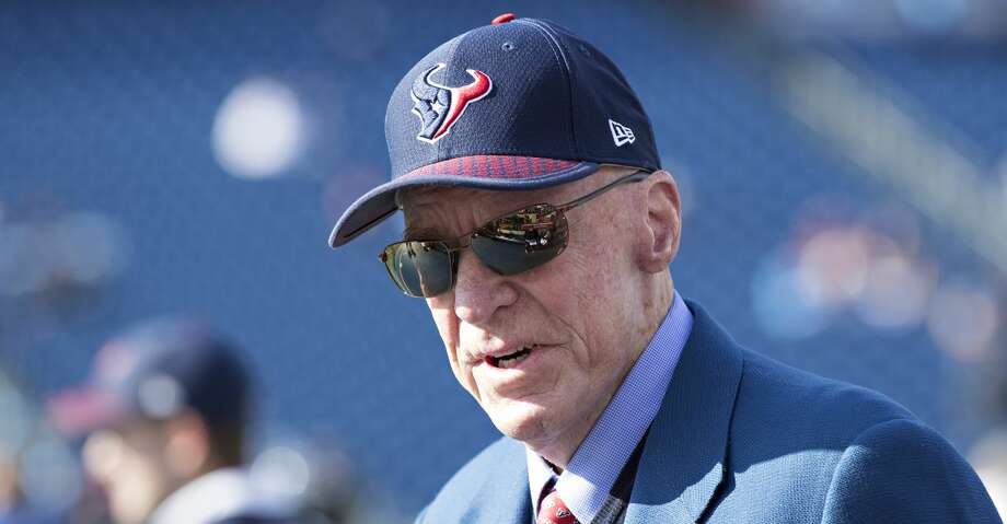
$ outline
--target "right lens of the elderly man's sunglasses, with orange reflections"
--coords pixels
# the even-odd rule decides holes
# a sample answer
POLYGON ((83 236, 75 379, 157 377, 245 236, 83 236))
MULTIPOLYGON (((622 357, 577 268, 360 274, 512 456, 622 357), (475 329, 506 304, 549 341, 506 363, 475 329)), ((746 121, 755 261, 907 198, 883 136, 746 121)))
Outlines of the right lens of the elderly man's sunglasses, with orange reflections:
POLYGON ((566 244, 566 217, 545 203, 500 217, 472 235, 472 251, 500 275, 541 266, 563 253, 566 244))

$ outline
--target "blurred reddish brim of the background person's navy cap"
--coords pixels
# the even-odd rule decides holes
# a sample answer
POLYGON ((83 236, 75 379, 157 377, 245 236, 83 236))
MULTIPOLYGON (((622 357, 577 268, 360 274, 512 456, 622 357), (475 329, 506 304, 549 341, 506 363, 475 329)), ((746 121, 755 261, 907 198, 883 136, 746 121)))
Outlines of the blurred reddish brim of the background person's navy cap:
POLYGON ((113 426, 129 415, 112 394, 89 386, 56 395, 49 399, 47 410, 53 426, 70 436, 113 426))

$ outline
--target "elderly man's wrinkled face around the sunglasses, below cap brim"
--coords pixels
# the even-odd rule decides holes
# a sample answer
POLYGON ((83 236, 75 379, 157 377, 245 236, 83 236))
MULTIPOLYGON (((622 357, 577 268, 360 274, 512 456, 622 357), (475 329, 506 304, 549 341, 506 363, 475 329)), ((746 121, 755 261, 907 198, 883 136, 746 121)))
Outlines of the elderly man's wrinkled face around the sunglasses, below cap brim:
MULTIPOLYGON (((537 191, 413 191, 403 196, 406 238, 453 238, 528 205, 565 203, 624 173, 605 168, 537 191)), ((580 442, 647 342, 629 317, 639 302, 629 232, 638 199, 629 184, 568 211, 566 251, 519 275, 497 275, 465 249, 454 289, 427 299, 458 381, 501 432, 544 455, 580 442)))

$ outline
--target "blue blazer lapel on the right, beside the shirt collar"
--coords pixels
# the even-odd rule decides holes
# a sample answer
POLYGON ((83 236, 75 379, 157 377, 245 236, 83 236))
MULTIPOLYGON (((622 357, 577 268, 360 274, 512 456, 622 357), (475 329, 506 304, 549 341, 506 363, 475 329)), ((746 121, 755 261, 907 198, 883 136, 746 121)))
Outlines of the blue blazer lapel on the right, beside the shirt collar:
POLYGON ((742 358, 702 307, 644 445, 626 524, 693 523, 725 475, 742 358))

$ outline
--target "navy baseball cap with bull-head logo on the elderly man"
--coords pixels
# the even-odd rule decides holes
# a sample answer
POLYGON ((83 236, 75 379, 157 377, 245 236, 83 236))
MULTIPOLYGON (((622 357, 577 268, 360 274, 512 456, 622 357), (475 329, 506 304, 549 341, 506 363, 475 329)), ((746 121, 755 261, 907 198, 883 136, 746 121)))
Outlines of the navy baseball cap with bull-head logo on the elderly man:
POLYGON ((420 185, 526 190, 602 165, 660 168, 650 119, 594 46, 545 20, 497 16, 448 40, 398 82, 385 114, 392 179, 339 218, 338 247, 420 185))

